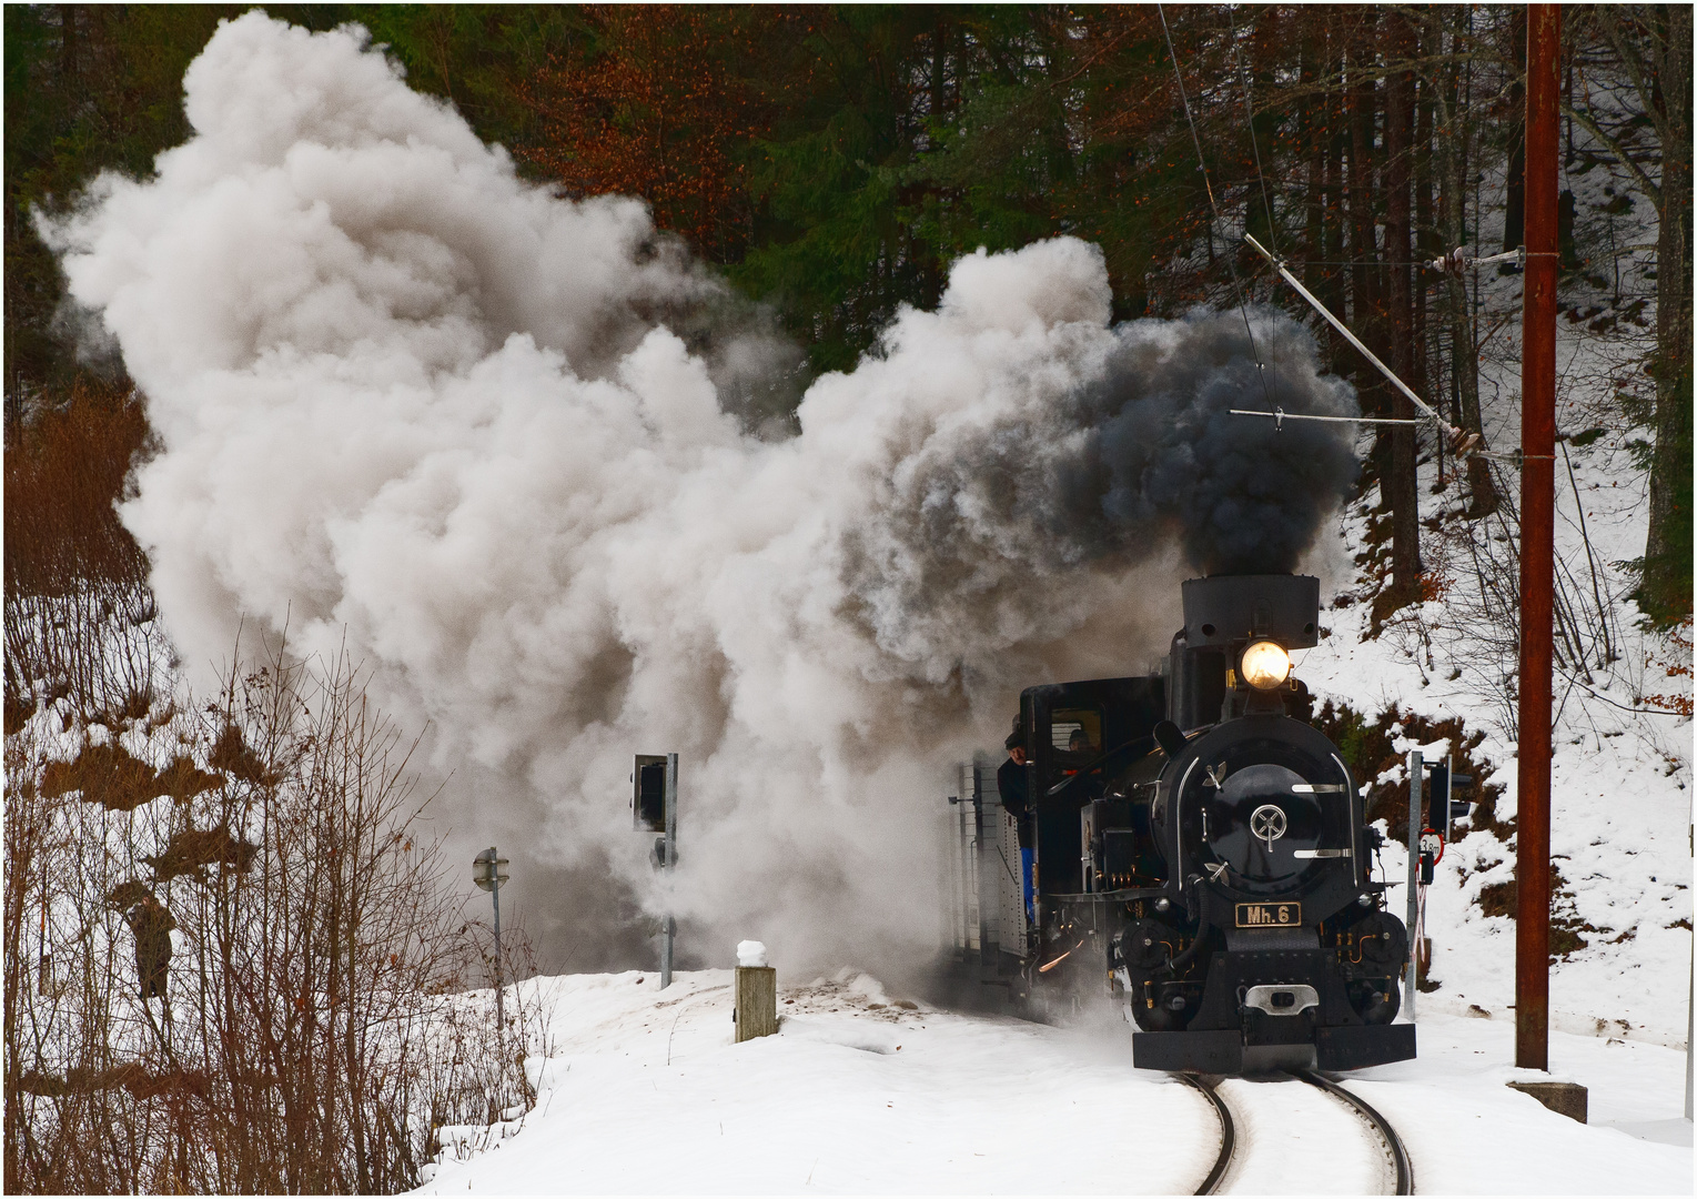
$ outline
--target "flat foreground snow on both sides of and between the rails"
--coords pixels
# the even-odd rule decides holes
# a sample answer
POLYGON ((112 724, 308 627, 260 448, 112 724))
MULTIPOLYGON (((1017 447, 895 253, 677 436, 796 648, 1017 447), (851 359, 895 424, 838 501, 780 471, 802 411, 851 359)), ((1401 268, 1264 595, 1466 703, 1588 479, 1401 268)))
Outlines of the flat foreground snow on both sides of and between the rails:
MULTIPOLYGON (((726 958, 730 954, 726 953, 726 958)), ((445 1129, 426 1194, 1188 1194, 1218 1146, 1196 1092, 1134 1070, 1130 1029, 901 1005, 871 978, 787 985, 777 1036, 731 1043, 731 971, 538 978, 536 1107, 445 1129)), ((1429 1016, 1420 1058, 1349 1082, 1398 1128, 1419 1191, 1689 1194, 1682 1053, 1553 1036, 1590 1124, 1509 1090, 1510 1026, 1429 1016), (1661 1143, 1683 1134, 1685 1145, 1661 1143), (1655 1140, 1661 1138, 1661 1140, 1655 1140)), ((1560 1077, 1560 1075, 1558 1075, 1560 1077)), ((1302 1084, 1227 1084, 1244 1189, 1351 1194, 1376 1160, 1302 1084), (1297 1119, 1310 1114, 1313 1119, 1297 1119)), ((1329 1102, 1329 1100, 1325 1100, 1329 1102)))

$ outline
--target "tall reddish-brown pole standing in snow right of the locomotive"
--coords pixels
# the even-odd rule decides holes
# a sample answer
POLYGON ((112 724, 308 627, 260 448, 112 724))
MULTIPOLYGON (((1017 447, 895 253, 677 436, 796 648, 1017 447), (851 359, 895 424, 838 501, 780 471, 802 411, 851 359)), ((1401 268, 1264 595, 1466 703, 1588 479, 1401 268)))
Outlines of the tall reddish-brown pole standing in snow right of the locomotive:
MULTIPOLYGON (((1561 8, 1527 8, 1521 346, 1521 746, 1514 1063, 1549 1068, 1549 706, 1556 503, 1556 149, 1561 8)), ((1412 849, 1410 849, 1412 853, 1412 849)))

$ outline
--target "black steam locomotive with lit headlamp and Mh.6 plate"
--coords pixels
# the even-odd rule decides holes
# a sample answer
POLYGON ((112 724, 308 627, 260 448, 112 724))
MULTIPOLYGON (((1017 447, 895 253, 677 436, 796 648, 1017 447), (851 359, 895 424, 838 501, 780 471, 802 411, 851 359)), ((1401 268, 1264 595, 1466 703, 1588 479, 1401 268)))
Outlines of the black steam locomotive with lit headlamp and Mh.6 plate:
POLYGON ((1215 576, 1183 598, 1162 674, 1020 696, 1023 771, 1001 786, 1028 861, 1015 994, 1106 982, 1156 1070, 1412 1058, 1380 836, 1291 676, 1290 650, 1319 644, 1319 581, 1215 576))

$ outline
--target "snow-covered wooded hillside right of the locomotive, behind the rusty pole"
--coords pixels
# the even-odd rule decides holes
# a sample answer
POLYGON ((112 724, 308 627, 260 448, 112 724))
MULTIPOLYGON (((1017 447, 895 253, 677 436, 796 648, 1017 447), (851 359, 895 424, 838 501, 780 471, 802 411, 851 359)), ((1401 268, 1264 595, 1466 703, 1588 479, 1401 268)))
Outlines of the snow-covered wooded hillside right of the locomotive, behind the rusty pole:
MULTIPOLYGON (((1655 239, 1639 202, 1619 216, 1619 172, 1575 168, 1580 253, 1655 239), (1602 229, 1600 221, 1609 222, 1602 229), (1619 228, 1614 228, 1619 224, 1619 228), (1597 226, 1597 228, 1592 228, 1597 226), (1607 234, 1607 236, 1604 236, 1607 234)), ((1488 238, 1487 238, 1488 241, 1488 238)), ((1692 965, 1692 673, 1690 625, 1673 635, 1644 632, 1627 598, 1627 562, 1644 552, 1648 476, 1622 394, 1646 392, 1643 353, 1653 348, 1653 282, 1641 256, 1612 267, 1587 258, 1563 275, 1558 328, 1556 426, 1556 718, 1551 844, 1560 880, 1556 914, 1568 939, 1554 963, 1551 1004, 1558 1027, 1683 1044, 1692 965), (1612 289, 1609 287, 1612 282, 1612 289), (1646 309, 1646 297, 1651 301, 1646 309)), ((1485 740, 1490 783, 1504 788, 1497 820, 1515 812, 1517 564, 1521 277, 1478 272, 1485 324, 1481 399, 1504 508, 1466 518, 1466 487, 1453 460, 1427 445, 1420 465, 1422 560, 1429 600, 1373 633, 1378 491, 1351 506, 1337 547, 1358 569, 1337 579, 1330 628, 1298 662, 1322 696, 1369 717, 1390 705, 1431 720, 1461 718, 1485 740)), ((1398 751, 1414 749, 1398 742, 1398 751)), ((1446 744, 1425 746, 1429 759, 1446 744)), ((1400 778, 1400 773, 1395 774, 1400 778)), ((1371 780, 1363 780, 1371 781, 1371 780)), ((1405 858, 1388 846, 1385 864, 1402 878, 1405 858)), ((1488 1010, 1512 1019, 1514 920, 1487 915, 1485 888, 1514 876, 1512 834, 1473 832, 1451 846, 1427 898, 1432 1010, 1488 1010)), ((1400 902, 1398 902, 1400 912, 1400 902)))

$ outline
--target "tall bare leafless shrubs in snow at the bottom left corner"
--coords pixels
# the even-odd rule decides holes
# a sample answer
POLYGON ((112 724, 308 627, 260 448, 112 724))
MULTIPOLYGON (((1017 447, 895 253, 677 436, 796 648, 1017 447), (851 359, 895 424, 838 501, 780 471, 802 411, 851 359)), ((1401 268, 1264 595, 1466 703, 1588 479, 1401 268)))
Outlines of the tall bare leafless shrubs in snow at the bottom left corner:
POLYGON ((56 763, 80 730, 39 718, 7 737, 7 1189, 411 1189, 440 1128, 528 1107, 541 1027, 524 988, 507 1027, 468 990, 482 931, 445 885, 412 744, 350 664, 282 647, 180 712, 148 742, 158 771, 87 740, 56 763), (151 797, 112 803, 114 769, 151 797), (154 902, 166 1002, 139 999, 154 902))

